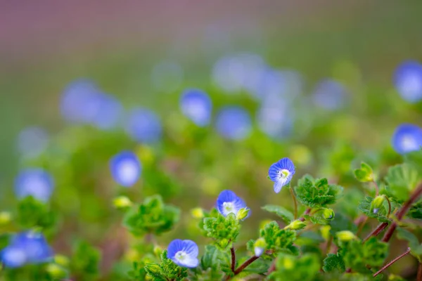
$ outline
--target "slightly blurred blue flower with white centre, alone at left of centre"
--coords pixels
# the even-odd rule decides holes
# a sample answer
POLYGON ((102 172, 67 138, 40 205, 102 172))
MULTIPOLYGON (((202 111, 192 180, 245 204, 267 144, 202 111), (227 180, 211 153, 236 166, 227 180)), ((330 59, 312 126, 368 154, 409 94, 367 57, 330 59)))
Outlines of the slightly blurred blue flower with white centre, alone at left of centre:
POLYGON ((123 151, 111 159, 110 170, 118 184, 129 188, 141 176, 141 162, 133 152, 123 151))

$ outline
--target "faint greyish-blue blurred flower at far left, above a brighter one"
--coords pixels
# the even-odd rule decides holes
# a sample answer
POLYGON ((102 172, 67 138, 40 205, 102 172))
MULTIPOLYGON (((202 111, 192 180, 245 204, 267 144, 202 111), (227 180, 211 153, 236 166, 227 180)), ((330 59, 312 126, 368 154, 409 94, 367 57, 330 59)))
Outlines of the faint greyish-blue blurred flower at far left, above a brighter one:
POLYGON ((18 136, 18 150, 25 158, 41 155, 49 143, 48 133, 38 126, 30 126, 20 131, 18 136))

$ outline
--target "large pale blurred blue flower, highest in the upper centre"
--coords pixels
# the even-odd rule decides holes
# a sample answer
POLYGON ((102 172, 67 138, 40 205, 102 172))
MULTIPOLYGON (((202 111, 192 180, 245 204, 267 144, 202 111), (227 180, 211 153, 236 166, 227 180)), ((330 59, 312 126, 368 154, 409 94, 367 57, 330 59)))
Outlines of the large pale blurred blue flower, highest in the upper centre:
POLYGON ((255 83, 265 67, 264 60, 253 53, 226 55, 215 63, 212 79, 227 93, 255 89, 255 83))

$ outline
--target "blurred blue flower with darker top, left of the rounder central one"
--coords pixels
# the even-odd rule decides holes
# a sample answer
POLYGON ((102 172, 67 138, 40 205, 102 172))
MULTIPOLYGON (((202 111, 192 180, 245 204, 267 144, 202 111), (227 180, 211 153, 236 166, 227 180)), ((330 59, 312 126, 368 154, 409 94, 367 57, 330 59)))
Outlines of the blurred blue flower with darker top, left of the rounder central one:
POLYGON ((198 126, 210 124, 212 102, 204 91, 188 89, 180 99, 181 112, 198 126))

